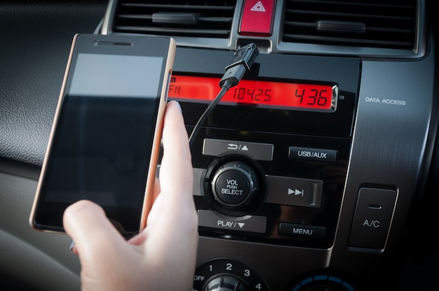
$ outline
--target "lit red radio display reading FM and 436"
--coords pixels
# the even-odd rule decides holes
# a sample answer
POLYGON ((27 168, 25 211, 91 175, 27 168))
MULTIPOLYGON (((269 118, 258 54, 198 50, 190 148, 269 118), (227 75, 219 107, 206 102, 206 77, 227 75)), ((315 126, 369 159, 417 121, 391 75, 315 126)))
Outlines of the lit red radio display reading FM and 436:
MULTIPOLYGON (((173 75, 168 97, 187 101, 212 101, 221 89, 219 80, 220 78, 173 75)), ((224 94, 220 103, 332 112, 337 106, 337 95, 337 85, 241 80, 224 94)))

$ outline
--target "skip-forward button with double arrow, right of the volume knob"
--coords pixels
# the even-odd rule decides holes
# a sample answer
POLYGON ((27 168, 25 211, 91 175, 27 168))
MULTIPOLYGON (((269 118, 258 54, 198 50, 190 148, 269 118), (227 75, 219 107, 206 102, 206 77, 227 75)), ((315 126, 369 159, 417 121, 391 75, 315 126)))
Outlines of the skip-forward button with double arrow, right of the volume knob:
POLYGON ((322 204, 323 181, 266 176, 267 203, 318 208, 322 204))

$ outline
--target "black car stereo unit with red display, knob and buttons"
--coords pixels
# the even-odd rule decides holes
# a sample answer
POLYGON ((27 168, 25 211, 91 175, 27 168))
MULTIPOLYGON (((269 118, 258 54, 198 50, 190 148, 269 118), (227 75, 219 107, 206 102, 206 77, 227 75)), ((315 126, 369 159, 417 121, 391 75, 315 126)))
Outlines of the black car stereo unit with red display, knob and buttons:
MULTIPOLYGON (((227 52, 215 53, 224 58, 215 64, 227 64, 227 52)), ((182 60, 194 57, 176 58, 182 63, 175 64, 169 90, 169 98, 182 105, 189 133, 219 92, 224 73, 224 67, 203 63, 187 70, 182 60)), ((191 148, 200 235, 330 248, 346 183, 358 78, 355 57, 259 55, 191 148)))

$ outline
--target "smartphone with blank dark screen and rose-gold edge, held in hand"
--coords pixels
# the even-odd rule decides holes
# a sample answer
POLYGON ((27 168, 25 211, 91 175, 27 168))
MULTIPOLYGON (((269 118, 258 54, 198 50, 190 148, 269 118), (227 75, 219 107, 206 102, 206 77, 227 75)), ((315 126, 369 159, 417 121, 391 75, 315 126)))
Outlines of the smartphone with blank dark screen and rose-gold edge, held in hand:
MULTIPOLYGON (((123 236, 146 225, 175 41, 77 34, 29 222, 65 233, 62 215, 94 201, 123 236)), ((93 223, 93 222, 90 222, 93 223)))

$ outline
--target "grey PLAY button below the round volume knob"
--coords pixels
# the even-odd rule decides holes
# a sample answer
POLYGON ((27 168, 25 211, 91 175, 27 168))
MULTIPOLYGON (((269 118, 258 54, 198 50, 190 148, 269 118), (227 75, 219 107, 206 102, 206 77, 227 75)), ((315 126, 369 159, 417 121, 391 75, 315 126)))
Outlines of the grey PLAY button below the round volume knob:
POLYGON ((266 217, 245 215, 231 217, 216 211, 198 210, 198 225, 216 229, 238 230, 240 232, 257 232, 264 234, 266 230, 266 217))

